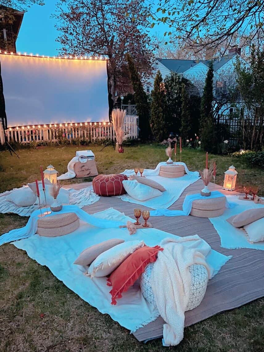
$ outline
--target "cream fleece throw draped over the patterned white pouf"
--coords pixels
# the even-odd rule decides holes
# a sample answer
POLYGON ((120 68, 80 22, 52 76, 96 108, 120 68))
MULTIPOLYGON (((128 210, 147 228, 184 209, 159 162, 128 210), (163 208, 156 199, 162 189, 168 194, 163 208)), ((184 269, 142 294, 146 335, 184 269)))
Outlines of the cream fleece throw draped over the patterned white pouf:
POLYGON ((160 245, 164 250, 158 253, 154 263, 151 288, 159 314, 166 322, 163 325, 163 345, 175 346, 183 339, 184 312, 191 285, 188 268, 202 264, 208 271, 208 278, 211 278, 213 269, 206 262, 211 247, 198 235, 165 238, 160 245))

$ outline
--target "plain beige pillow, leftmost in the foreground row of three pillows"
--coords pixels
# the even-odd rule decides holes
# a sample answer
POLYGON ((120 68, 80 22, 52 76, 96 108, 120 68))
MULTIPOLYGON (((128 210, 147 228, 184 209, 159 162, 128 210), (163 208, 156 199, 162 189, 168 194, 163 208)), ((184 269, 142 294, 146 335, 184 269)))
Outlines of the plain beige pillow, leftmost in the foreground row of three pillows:
POLYGON ((107 240, 88 247, 80 253, 73 264, 90 265, 94 259, 99 256, 99 254, 123 242, 125 242, 125 240, 113 238, 111 240, 107 240))

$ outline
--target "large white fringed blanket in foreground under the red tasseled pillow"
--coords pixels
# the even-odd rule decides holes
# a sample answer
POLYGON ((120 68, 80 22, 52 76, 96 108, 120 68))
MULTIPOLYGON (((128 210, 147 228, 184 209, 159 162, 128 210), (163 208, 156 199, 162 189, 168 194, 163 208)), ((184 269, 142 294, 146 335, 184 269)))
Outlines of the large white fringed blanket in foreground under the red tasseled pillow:
MULTIPOLYGON (((73 207, 68 207, 69 209, 66 209, 68 212, 73 210, 73 207)), ((114 228, 114 226, 119 224, 126 224, 128 220, 133 221, 115 209, 107 209, 93 215, 87 214, 88 218, 85 218, 84 212, 77 207, 76 212, 78 216, 79 214, 84 216, 82 219, 89 218, 88 221, 93 221, 93 224, 98 224, 98 226, 105 224, 113 226, 113 228, 106 228, 107 226, 105 228, 95 227, 82 221, 80 228, 68 235, 53 238, 31 235, 31 237, 16 241, 13 244, 17 248, 25 250, 29 257, 36 260, 39 264, 46 265, 59 280, 63 281, 69 289, 73 290, 84 301, 96 307, 101 313, 109 314, 113 320, 132 332, 155 320, 159 314, 144 299, 139 285, 135 284, 127 292, 123 293, 123 297, 118 301, 118 304, 112 306, 111 295, 109 294, 110 289, 106 284, 106 278, 91 279, 84 276, 83 273, 86 268, 74 265, 73 262, 83 249, 111 238, 122 238, 125 241, 144 240, 146 245, 155 246, 160 244, 164 238, 179 237, 155 228, 138 229, 137 233, 131 236, 126 228, 114 228), (113 222, 112 225, 110 224, 111 222, 113 222)), ((25 230, 25 228, 13 230, 11 235, 15 238, 18 237, 17 234, 27 234, 28 231, 25 230)), ((34 230, 30 231, 30 233, 32 232, 34 230)), ((214 268, 214 274, 220 270, 228 259, 230 257, 213 250, 206 257, 207 263, 214 268)))

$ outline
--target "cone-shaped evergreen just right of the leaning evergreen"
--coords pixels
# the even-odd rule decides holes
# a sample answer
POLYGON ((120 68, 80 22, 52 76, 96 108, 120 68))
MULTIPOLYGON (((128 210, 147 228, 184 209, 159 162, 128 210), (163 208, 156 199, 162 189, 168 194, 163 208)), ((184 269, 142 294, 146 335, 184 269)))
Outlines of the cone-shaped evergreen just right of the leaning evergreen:
POLYGON ((168 127, 166 126, 166 94, 161 72, 158 70, 151 92, 151 118, 150 126, 153 137, 161 142, 168 137, 168 127))

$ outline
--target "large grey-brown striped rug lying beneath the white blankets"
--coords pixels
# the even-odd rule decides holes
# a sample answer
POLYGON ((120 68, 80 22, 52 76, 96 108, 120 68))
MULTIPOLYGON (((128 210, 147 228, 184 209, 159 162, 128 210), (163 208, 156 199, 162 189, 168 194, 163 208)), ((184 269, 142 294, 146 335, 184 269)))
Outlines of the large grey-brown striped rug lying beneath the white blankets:
MULTIPOLYGON (((69 188, 79 189, 87 186, 89 186, 89 183, 80 183, 71 185, 69 188)), ((183 191, 178 201, 170 209, 181 210, 185 196, 188 193, 198 193, 202 188, 203 183, 201 180, 191 184, 183 191)), ((210 184, 210 189, 214 189, 213 184, 210 184)), ((216 189, 230 195, 230 192, 223 191, 220 186, 215 186, 216 189)), ((133 218, 135 206, 116 197, 101 197, 98 202, 83 209, 89 213, 95 213, 109 207, 114 207, 133 218)), ((147 209, 144 206, 141 208, 147 209)), ((216 313, 239 307, 264 296, 264 251, 249 248, 231 250, 221 247, 220 237, 208 219, 195 218, 193 216, 155 216, 151 218, 151 223, 159 230, 175 235, 198 234, 214 250, 226 256, 232 255, 232 258, 222 267, 218 275, 208 282, 206 294, 200 306, 186 312, 185 326, 192 325, 216 313)), ((134 336, 139 341, 162 337, 163 323, 163 320, 158 318, 138 329, 134 332, 134 336)))

